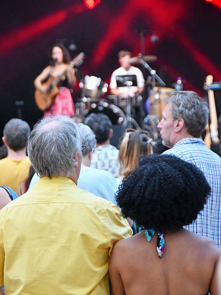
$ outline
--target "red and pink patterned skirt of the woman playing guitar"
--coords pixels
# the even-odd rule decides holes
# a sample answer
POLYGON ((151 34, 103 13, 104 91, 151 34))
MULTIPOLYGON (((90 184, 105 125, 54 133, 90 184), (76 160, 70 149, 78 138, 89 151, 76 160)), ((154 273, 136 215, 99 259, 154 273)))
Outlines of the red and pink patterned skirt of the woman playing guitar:
POLYGON ((44 111, 44 117, 49 117, 50 115, 73 116, 74 114, 75 106, 70 90, 67 87, 59 87, 59 92, 55 97, 55 101, 44 111))

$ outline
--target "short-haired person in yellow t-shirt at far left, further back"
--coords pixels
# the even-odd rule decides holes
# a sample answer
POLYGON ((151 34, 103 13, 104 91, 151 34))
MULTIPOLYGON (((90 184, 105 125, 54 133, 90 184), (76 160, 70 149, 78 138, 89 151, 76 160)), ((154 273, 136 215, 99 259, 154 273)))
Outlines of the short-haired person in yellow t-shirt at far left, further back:
POLYGON ((14 191, 29 175, 31 162, 26 155, 30 134, 27 122, 11 119, 4 127, 2 140, 8 155, 0 160, 0 186, 9 186, 14 191))

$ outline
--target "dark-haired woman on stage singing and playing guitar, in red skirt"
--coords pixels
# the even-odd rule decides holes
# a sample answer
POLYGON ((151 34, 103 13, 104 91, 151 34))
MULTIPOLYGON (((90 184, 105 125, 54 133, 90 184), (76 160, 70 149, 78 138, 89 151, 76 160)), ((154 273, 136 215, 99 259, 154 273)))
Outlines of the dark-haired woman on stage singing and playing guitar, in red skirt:
POLYGON ((44 94, 49 92, 52 81, 65 73, 60 83, 57 85, 57 95, 51 98, 50 106, 44 109, 44 117, 58 114, 72 116, 75 114, 74 103, 70 90, 67 87, 68 85, 74 86, 76 84, 74 68, 68 67, 70 60, 70 53, 67 48, 63 44, 55 44, 51 50, 51 65, 48 65, 34 80, 35 88, 41 91, 44 96, 44 94), (46 80, 47 82, 42 84, 42 82, 46 80))

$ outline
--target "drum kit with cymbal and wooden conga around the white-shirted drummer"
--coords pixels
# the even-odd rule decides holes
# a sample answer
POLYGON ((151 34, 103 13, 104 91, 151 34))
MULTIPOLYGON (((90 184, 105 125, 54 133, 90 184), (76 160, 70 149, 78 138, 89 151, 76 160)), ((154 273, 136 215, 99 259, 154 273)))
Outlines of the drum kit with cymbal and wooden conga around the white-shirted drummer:
MULTIPOLYGON (((152 62, 156 59, 157 57, 154 55, 138 55, 129 59, 131 64, 141 64, 151 74, 152 89, 149 92, 150 111, 149 115, 144 120, 142 119, 142 127, 148 130, 155 139, 159 135, 156 126, 161 119, 161 113, 165 106, 164 99, 169 93, 174 91, 172 88, 165 87, 165 83, 156 74, 156 71, 152 70, 147 64, 147 62, 152 62), (161 86, 156 86, 156 80, 161 86)), ((130 80, 132 81, 132 78, 130 80)), ((130 83, 126 81, 128 88, 133 85, 131 81, 129 81, 130 83)), ((123 125, 127 128, 133 126, 135 129, 140 129, 134 117, 135 109, 143 107, 142 96, 108 95, 104 98, 105 93, 108 91, 108 84, 95 76, 86 75, 80 81, 79 86, 81 88, 81 99, 76 104, 76 113, 83 114, 84 116, 88 116, 91 113, 104 113, 109 117, 112 124, 123 125)))

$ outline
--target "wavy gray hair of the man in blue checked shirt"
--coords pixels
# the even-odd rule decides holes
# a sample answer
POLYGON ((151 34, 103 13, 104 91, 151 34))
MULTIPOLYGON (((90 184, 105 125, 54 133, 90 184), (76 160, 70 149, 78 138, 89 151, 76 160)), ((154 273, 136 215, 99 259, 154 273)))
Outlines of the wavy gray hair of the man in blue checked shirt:
POLYGON ((194 137, 200 137, 208 123, 207 102, 194 91, 174 91, 166 102, 171 102, 173 118, 184 119, 187 132, 194 137))

